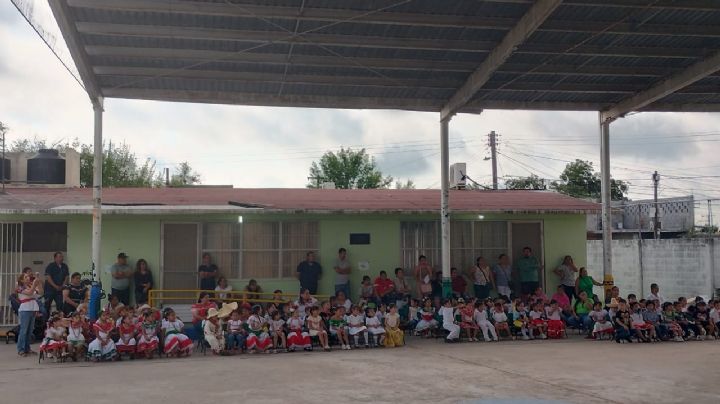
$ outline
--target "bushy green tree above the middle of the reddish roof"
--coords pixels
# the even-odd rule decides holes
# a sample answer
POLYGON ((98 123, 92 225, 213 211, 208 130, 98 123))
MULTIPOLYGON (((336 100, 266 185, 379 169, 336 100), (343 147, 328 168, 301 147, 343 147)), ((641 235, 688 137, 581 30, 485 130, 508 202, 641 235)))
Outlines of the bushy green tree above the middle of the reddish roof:
POLYGON ((340 189, 387 188, 391 176, 383 177, 375 159, 365 149, 354 151, 341 148, 339 152, 326 152, 320 161, 310 166, 308 188, 319 188, 323 182, 334 182, 340 189))

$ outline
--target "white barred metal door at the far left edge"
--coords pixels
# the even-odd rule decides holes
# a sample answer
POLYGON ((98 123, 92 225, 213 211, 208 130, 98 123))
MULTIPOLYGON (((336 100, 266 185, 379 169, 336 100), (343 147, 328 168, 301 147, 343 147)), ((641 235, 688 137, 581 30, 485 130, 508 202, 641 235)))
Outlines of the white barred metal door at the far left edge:
POLYGON ((0 223, 0 326, 17 324, 8 298, 22 271, 22 223, 0 223))

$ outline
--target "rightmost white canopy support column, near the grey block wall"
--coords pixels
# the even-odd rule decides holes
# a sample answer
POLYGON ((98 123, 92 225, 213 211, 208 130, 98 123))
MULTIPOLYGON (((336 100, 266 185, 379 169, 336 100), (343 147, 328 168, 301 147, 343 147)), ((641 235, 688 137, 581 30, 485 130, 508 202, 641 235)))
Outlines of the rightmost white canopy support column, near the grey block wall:
POLYGON ((603 225, 603 274, 604 282, 612 282, 612 204, 610 192, 610 121, 600 120, 600 174, 603 225))

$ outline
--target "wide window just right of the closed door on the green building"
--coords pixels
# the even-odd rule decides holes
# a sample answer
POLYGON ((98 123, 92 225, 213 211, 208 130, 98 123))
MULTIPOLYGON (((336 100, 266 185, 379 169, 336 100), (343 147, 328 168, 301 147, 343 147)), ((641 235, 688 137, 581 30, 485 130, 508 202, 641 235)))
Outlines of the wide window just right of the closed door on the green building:
POLYGON ((319 239, 317 222, 205 223, 202 252, 229 278, 291 278, 319 239))

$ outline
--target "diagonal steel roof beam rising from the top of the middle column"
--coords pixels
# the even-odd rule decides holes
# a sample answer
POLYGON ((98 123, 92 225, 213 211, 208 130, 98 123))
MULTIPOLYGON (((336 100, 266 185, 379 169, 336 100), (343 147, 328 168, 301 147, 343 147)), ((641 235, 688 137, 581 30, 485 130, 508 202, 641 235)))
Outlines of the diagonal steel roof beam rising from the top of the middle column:
POLYGON ((538 0, 518 21, 502 41, 493 49, 462 87, 445 104, 440 112, 444 121, 459 112, 475 94, 490 80, 490 77, 510 57, 517 47, 525 42, 550 14, 560 6, 562 0, 538 0))

